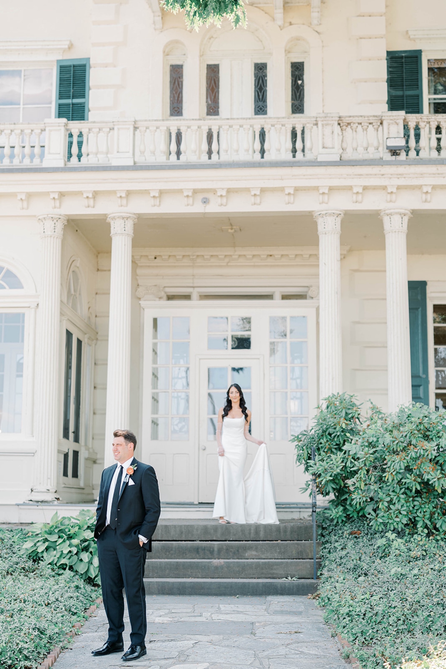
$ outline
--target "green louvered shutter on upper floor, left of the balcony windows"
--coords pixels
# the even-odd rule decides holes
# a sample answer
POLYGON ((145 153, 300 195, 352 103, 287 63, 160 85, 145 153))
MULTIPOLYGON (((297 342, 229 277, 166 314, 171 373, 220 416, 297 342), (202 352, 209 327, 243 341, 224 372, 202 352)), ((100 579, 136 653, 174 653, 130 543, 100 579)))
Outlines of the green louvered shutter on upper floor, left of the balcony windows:
POLYGON ((55 88, 55 118, 69 121, 88 120, 90 58, 58 60, 55 88))

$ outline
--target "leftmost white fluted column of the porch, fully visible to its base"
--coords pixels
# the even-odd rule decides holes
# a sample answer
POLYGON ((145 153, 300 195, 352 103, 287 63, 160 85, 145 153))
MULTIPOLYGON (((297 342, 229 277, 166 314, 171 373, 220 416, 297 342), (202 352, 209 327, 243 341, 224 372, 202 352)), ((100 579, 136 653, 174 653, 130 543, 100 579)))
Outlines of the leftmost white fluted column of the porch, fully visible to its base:
POLYGON ((62 236, 67 218, 60 214, 38 216, 41 226, 41 292, 37 353, 37 458, 30 499, 51 502, 57 498, 60 270, 62 236))

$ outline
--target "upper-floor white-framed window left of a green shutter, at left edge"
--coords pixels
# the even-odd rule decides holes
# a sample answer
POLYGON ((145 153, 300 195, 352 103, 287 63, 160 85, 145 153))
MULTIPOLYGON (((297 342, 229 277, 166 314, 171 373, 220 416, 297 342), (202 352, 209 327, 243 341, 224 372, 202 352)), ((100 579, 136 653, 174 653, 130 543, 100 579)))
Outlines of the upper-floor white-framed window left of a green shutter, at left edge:
POLYGON ((39 122, 53 116, 55 68, 1 68, 0 122, 39 122))

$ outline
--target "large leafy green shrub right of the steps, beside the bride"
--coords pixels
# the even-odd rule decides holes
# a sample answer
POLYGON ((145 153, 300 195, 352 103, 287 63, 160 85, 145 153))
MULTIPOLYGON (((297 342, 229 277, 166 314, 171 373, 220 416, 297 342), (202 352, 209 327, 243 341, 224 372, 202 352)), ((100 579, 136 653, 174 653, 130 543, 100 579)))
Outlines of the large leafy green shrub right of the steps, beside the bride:
POLYGON ((372 405, 364 418, 354 397, 331 395, 314 426, 292 441, 296 461, 316 473, 318 493, 332 496, 335 520, 368 518, 374 529, 445 532, 445 421, 444 413, 424 404, 391 414, 372 405))

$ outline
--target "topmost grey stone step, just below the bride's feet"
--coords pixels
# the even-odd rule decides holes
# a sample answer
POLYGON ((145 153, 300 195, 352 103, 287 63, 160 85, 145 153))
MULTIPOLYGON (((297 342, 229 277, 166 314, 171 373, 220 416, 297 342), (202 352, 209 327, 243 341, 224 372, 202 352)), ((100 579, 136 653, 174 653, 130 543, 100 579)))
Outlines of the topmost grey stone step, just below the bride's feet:
POLYGON ((218 520, 158 522, 153 541, 312 541, 308 520, 281 520, 279 524, 221 524, 218 520))

